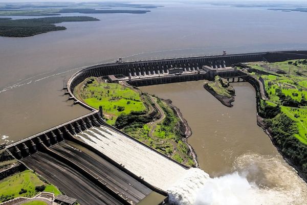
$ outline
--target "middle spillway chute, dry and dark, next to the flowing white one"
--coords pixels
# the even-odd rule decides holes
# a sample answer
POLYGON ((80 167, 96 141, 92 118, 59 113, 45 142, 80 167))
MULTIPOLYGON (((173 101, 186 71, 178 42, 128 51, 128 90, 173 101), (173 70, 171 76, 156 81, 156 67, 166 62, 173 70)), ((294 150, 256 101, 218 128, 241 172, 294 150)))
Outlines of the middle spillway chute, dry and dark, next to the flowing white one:
POLYGON ((139 202, 152 191, 102 157, 73 142, 60 142, 51 146, 51 149, 70 158, 74 163, 95 177, 99 177, 113 190, 134 203, 139 202))

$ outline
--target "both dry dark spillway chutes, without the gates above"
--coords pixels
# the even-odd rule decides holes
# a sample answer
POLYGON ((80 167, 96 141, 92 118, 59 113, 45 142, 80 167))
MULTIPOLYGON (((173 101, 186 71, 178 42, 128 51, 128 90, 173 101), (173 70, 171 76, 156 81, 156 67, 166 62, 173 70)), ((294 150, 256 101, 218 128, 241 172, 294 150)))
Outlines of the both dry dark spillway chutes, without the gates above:
POLYGON ((156 202, 151 204, 159 204, 165 198, 103 157, 74 142, 61 141, 47 149, 69 159, 76 166, 63 162, 60 157, 55 157, 48 151, 38 151, 22 158, 21 162, 47 178, 65 194, 77 198, 82 205, 137 204, 153 193, 157 197, 156 202), (80 169, 93 175, 95 180, 101 181, 113 192, 98 186, 95 180, 80 169))

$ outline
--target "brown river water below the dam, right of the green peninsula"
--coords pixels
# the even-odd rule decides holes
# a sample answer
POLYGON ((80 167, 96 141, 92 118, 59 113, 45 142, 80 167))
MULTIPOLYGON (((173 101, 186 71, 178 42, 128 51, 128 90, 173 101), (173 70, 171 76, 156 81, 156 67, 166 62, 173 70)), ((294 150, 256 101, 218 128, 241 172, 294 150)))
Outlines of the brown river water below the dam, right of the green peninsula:
POLYGON ((191 81, 140 88, 171 99, 180 108, 192 129, 188 143, 198 155, 200 168, 211 177, 238 173, 266 190, 260 196, 267 203, 275 191, 282 192, 293 204, 299 204, 297 196, 302 197, 301 202, 307 201, 306 184, 257 125, 254 88, 249 83, 232 83, 236 96, 234 106, 229 108, 208 93, 203 84, 204 81, 191 81))

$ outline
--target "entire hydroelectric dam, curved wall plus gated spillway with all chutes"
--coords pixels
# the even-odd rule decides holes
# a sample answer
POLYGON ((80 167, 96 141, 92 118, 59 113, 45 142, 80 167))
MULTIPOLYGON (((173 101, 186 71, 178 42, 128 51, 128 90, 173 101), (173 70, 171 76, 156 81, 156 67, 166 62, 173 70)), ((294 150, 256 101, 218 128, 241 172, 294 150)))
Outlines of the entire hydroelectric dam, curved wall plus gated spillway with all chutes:
POLYGON ((237 63, 307 58, 307 51, 262 52, 99 64, 75 73, 67 91, 74 104, 91 113, 32 135, 5 148, 80 204, 164 204, 167 190, 189 167, 105 123, 102 111, 74 96, 89 77, 126 81, 134 86, 208 79, 220 75, 235 81, 256 81, 229 69, 237 63))

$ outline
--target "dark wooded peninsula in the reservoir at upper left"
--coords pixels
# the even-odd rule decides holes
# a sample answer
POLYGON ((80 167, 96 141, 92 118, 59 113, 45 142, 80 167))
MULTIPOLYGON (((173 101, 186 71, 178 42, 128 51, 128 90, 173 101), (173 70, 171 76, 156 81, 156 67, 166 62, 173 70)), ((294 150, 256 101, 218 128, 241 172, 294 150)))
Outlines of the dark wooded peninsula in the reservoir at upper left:
POLYGON ((50 31, 65 30, 63 26, 55 26, 61 22, 96 21, 97 18, 89 16, 45 17, 30 19, 0 19, 0 36, 28 37, 50 31))

